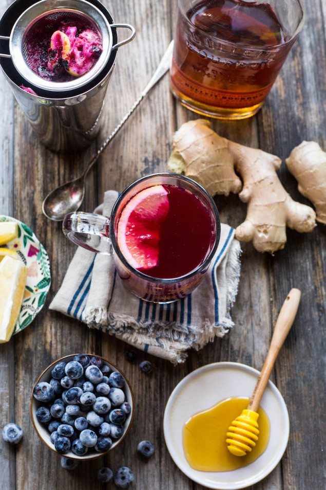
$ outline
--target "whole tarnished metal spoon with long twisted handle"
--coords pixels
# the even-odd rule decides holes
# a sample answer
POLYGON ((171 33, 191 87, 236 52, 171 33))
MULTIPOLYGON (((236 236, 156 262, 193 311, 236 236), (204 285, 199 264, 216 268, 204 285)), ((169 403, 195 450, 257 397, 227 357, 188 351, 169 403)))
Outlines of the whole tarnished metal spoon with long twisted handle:
POLYGON ((90 164, 83 174, 74 180, 70 180, 70 182, 63 184, 62 186, 57 187, 46 196, 42 204, 42 211, 43 214, 45 214, 50 220, 63 221, 66 214, 76 211, 80 207, 84 199, 85 178, 88 172, 98 160, 99 156, 104 152, 109 142, 112 141, 114 136, 116 136, 116 134, 121 130, 124 123, 129 119, 133 111, 135 111, 136 107, 138 107, 145 95, 152 87, 154 87, 154 85, 163 77, 163 75, 165 75, 171 64, 172 49, 173 41, 170 42, 155 74, 152 76, 146 88, 132 105, 129 112, 127 112, 124 118, 120 121, 116 129, 114 129, 110 136, 104 141, 97 154, 95 154, 91 159, 90 164))

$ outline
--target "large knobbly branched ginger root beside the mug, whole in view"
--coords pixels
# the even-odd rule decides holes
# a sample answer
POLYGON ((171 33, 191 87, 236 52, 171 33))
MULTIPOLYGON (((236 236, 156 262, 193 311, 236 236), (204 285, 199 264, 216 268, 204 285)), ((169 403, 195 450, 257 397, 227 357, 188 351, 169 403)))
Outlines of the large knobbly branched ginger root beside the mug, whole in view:
POLYGON ((236 238, 253 241, 259 252, 284 248, 286 225, 300 232, 316 226, 314 210, 293 201, 283 188, 276 170, 281 160, 262 150, 248 148, 222 138, 208 121, 184 123, 175 134, 170 170, 194 178, 211 195, 238 193, 248 203, 245 221, 236 229, 236 238))

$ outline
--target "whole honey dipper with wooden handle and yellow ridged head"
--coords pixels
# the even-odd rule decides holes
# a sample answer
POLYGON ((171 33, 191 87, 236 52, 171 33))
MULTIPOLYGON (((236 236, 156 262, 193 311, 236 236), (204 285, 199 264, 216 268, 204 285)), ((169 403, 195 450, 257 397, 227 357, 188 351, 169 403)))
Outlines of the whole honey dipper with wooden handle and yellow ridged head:
POLYGON ((257 423, 259 402, 265 391, 278 353, 294 322, 299 307, 300 296, 301 292, 299 289, 291 289, 290 293, 286 296, 276 320, 269 352, 267 352, 248 407, 242 410, 241 415, 228 428, 228 432, 226 433, 227 449, 235 456, 245 456, 247 452, 251 452, 253 447, 256 446, 259 434, 257 423))

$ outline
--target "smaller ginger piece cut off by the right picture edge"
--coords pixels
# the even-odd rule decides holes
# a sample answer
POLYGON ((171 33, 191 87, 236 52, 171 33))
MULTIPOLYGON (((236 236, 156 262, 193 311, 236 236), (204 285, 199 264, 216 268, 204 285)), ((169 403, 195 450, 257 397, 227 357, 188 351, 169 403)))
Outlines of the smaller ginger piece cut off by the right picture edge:
POLYGON ((298 190, 316 208, 316 220, 326 224, 326 152, 315 141, 302 141, 285 160, 298 190))

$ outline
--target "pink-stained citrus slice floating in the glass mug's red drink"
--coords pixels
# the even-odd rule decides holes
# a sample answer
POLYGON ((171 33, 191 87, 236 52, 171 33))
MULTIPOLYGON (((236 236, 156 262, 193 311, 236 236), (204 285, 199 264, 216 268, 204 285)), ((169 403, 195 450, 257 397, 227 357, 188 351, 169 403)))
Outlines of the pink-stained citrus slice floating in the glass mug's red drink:
POLYGON ((155 267, 159 258, 160 230, 169 202, 163 186, 142 190, 120 215, 117 241, 127 262, 135 269, 155 267))

